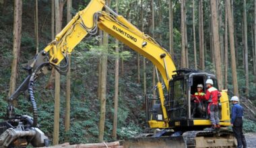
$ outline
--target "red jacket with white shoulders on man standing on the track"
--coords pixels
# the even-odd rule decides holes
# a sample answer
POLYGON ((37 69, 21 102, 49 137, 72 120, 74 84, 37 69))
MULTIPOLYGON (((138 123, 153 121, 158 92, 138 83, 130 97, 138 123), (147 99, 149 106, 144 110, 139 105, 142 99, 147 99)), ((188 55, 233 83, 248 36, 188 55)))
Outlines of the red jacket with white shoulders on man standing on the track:
POLYGON ((205 94, 205 100, 210 102, 210 104, 217 105, 218 104, 218 96, 220 96, 220 92, 216 87, 209 87, 205 94))

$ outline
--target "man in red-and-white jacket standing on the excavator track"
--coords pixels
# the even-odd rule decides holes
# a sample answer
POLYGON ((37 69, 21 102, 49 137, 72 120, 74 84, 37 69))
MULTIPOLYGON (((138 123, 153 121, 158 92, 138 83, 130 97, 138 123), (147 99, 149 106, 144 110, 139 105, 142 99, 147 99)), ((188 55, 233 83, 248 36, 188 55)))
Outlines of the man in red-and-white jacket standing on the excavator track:
POLYGON ((206 80, 207 91, 205 94, 205 100, 208 101, 208 114, 210 114, 210 120, 212 122, 212 128, 220 128, 219 110, 218 110, 218 96, 220 92, 216 87, 213 87, 214 81, 212 79, 206 80))

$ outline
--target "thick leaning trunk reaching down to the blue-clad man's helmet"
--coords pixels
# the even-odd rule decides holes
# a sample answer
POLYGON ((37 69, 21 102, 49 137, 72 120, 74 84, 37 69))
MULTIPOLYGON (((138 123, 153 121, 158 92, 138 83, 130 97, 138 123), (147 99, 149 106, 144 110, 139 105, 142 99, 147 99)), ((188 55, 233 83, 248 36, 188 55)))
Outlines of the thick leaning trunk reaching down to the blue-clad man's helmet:
POLYGON ((229 32, 229 40, 230 40, 230 55, 231 55, 233 91, 234 91, 235 96, 239 96, 237 75, 236 75, 236 54, 234 51, 234 26, 233 26, 234 24, 233 24, 233 20, 232 20, 230 0, 226 0, 226 7, 228 9, 228 32, 229 32))

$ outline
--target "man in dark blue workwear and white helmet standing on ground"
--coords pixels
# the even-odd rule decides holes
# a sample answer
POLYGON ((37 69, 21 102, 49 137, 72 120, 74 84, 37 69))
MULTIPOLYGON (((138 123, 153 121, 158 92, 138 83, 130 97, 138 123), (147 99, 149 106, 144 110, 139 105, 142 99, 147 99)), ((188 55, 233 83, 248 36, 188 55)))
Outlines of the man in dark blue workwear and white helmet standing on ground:
POLYGON ((243 107, 238 104, 239 98, 237 96, 232 96, 230 101, 233 104, 231 112, 231 126, 234 137, 236 137, 237 147, 247 147, 245 135, 243 135, 243 107))

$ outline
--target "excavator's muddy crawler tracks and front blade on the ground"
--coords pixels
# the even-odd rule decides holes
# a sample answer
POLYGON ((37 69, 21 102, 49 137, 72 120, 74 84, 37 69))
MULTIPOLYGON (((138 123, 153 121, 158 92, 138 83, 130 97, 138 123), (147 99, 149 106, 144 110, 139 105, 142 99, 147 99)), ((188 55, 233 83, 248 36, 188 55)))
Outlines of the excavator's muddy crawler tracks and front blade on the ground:
MULTIPOLYGON (((148 135, 146 135, 148 136, 148 135)), ((122 141, 123 147, 187 147, 187 148, 231 148, 236 147, 232 132, 226 130, 215 131, 187 131, 183 135, 162 137, 135 137, 122 141)))

